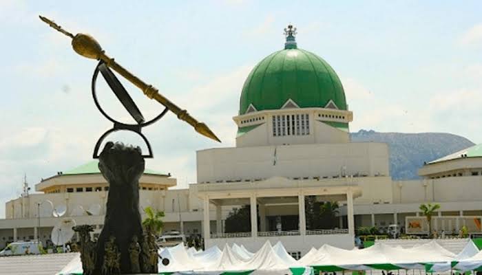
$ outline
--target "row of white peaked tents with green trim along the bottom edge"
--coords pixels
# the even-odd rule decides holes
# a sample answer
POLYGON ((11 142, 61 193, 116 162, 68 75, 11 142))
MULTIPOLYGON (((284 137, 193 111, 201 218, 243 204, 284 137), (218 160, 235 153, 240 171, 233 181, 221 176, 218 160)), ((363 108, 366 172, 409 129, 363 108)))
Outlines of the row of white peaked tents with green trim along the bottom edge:
MULTIPOLYGON (((375 243, 363 250, 344 250, 331 245, 312 248, 299 261, 286 252, 281 242, 271 246, 266 241, 258 252, 251 253, 242 245, 212 247, 205 251, 185 248, 183 244, 159 250, 169 265, 159 263, 160 274, 312 274, 319 271, 398 270, 431 271, 474 270, 482 266, 482 252, 472 241, 455 255, 430 241, 410 248, 375 243), (454 267, 454 265, 457 265, 454 267)), ((81 274, 80 256, 64 267, 60 274, 81 274)))

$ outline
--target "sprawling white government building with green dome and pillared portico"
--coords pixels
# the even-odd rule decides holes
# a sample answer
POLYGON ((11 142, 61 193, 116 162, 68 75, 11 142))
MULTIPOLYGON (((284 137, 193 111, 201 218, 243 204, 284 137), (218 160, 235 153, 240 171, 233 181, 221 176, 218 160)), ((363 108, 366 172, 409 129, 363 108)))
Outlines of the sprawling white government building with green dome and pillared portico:
MULTIPOLYGON (((422 179, 393 181, 387 144, 350 142, 353 113, 341 81, 326 61, 299 49, 294 35, 287 29, 284 49, 266 56, 245 81, 233 118, 236 146, 198 151, 197 183, 187 189, 169 190, 176 179, 147 169, 140 208, 165 211, 165 231, 200 234, 207 246, 238 243, 255 251, 266 240, 281 240, 295 254, 323 243, 353 248, 360 226, 395 223, 408 233, 426 233, 419 216, 426 202, 441 205, 435 229, 458 232, 466 225, 481 232, 482 147, 424 165, 422 179), (306 196, 338 201, 339 226, 306 228, 306 196), (251 232, 224 232, 230 210, 244 205, 258 206, 251 207, 251 232), (280 228, 280 221, 293 218, 296 228, 280 228)), ((43 179, 35 190, 6 203, 0 247, 15 240, 45 243, 64 217, 100 232, 108 185, 97 162, 43 179), (52 217, 46 201, 66 206, 64 216, 52 217)))

